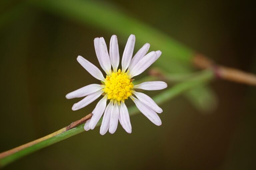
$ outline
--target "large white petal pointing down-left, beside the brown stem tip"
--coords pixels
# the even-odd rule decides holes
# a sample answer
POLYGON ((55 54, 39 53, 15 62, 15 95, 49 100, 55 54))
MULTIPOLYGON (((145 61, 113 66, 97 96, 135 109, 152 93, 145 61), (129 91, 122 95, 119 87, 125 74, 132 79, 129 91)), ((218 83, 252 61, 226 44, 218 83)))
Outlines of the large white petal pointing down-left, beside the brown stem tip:
POLYGON ((107 105, 107 97, 104 96, 92 111, 93 115, 89 124, 90 129, 94 129, 100 118, 102 117, 107 105))

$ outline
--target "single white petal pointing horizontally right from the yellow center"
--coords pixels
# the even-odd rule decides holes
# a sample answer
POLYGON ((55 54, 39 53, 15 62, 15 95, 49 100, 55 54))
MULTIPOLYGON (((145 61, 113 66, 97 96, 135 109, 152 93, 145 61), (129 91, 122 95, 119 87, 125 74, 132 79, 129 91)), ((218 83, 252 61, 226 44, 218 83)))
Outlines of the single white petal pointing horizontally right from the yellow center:
POLYGON ((134 89, 143 90, 162 90, 167 87, 167 84, 163 81, 146 81, 141 84, 135 85, 134 89))

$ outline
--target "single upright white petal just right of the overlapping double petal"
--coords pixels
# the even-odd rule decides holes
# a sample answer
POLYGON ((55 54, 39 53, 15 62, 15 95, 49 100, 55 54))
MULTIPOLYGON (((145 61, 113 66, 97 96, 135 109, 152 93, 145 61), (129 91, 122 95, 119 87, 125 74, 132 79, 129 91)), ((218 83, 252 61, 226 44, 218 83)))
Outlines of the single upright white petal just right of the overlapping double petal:
POLYGON ((116 35, 110 39, 109 56, 113 70, 116 72, 119 65, 119 49, 116 35))

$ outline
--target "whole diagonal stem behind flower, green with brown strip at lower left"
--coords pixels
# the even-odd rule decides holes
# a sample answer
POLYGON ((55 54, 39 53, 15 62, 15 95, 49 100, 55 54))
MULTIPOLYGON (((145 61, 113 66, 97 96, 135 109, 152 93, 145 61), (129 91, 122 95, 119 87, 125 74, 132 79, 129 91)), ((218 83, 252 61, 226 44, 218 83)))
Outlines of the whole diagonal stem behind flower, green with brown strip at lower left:
MULTIPOLYGON (((163 91, 162 93, 155 96, 153 98, 153 100, 158 104, 162 104, 162 103, 176 97, 177 95, 182 94, 183 92, 185 92, 189 89, 192 89, 198 85, 202 85, 202 84, 209 82, 213 78, 214 78, 214 74, 211 70, 204 70, 197 76, 189 79, 188 81, 178 83, 178 84, 174 85, 173 87, 163 91)), ((136 106, 129 107, 128 110, 129 110, 130 115, 135 115, 135 114, 139 113, 136 106)), ((45 137, 39 138, 37 140, 34 140, 27 144, 21 145, 14 149, 0 153, 0 167, 3 167, 21 157, 23 157, 23 156, 33 153, 39 149, 42 149, 49 145, 52 145, 56 142, 59 142, 61 140, 69 138, 71 136, 74 136, 78 133, 84 132, 85 131, 83 128, 84 123, 81 125, 79 125, 79 124, 90 119, 90 117, 91 117, 91 115, 89 114, 89 116, 87 115, 86 118, 81 119, 83 121, 79 120, 79 121, 72 123, 71 124, 72 128, 70 128, 69 130, 67 130, 67 127, 65 127, 65 128, 62 128, 62 129, 54 132, 54 133, 51 133, 45 137), (74 127, 74 125, 79 125, 79 126, 74 127)), ((98 122, 98 124, 96 126, 101 125, 101 120, 98 122)))

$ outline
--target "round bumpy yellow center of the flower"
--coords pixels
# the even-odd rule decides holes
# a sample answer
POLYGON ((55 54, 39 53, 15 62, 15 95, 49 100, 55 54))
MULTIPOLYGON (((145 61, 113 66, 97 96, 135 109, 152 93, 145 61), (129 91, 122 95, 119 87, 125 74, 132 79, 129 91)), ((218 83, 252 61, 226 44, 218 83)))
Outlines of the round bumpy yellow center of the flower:
POLYGON ((106 76, 104 83, 103 91, 107 94, 108 99, 113 102, 124 102, 132 95, 133 84, 127 72, 123 73, 120 69, 117 72, 112 72, 106 76))

